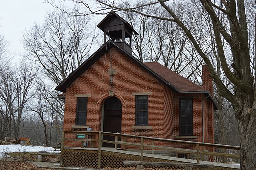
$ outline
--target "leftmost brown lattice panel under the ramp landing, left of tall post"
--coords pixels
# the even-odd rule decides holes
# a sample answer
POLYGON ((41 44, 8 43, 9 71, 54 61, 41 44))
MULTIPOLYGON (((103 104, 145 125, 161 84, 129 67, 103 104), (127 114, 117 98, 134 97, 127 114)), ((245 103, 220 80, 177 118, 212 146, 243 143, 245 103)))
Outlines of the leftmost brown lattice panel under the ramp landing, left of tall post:
POLYGON ((98 150, 63 149, 63 166, 98 168, 98 150))

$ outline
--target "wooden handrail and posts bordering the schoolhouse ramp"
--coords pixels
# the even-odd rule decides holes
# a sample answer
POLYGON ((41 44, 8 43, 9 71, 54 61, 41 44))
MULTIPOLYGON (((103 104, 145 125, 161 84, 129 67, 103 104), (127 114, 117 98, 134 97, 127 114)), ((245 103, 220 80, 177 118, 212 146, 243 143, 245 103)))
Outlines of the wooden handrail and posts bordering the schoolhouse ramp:
MULTIPOLYGON (((206 146, 210 148, 226 148, 231 150, 239 150, 239 146, 229 146, 229 145, 222 145, 222 144, 211 144, 211 143, 203 143, 203 142, 192 142, 192 141, 184 141, 184 140, 174 140, 174 139, 165 139, 165 138, 154 138, 154 137, 146 137, 146 136, 136 136, 136 135, 130 135, 130 134, 122 134, 122 133, 112 133, 112 132, 101 132, 101 131, 63 131, 62 132, 62 148, 65 147, 65 141, 66 140, 76 140, 76 141, 85 141, 87 139, 68 139, 65 138, 66 134, 86 134, 91 136, 96 136, 98 134, 98 140, 97 139, 88 139, 88 141, 92 142, 98 142, 98 148, 99 148, 99 156, 101 155, 101 147, 102 142, 106 143, 112 143, 115 145, 115 148, 117 148, 118 144, 121 144, 126 148, 125 146, 136 146, 140 147, 140 154, 141 154, 141 161, 143 161, 143 150, 144 148, 151 148, 152 152, 154 152, 155 149, 158 150, 169 150, 174 152, 181 152, 181 153, 192 153, 196 154, 197 162, 199 163, 199 155, 210 155, 210 156, 220 156, 220 157, 228 157, 228 158, 239 158, 240 156, 237 154, 225 154, 225 153, 218 153, 218 152, 208 152, 204 150, 200 150, 200 147, 206 146), (103 140, 103 135, 109 135, 109 136, 115 136, 114 141, 109 140, 103 140), (122 137, 124 141, 118 140, 118 137, 122 137), (137 139, 137 143, 135 142, 126 142, 127 138, 137 139), (152 144, 145 144, 144 140, 152 140, 152 144), (140 142, 139 142, 140 141, 140 142), (182 148, 173 148, 168 146, 157 146, 155 145, 155 142, 168 142, 168 143, 178 143, 178 144, 185 144, 185 145, 191 145, 196 146, 196 150, 192 149, 182 149, 182 148)), ((100 158, 100 157, 99 157, 100 158)), ((100 160, 99 160, 100 161, 100 160)), ((98 168, 100 168, 100 162, 98 162, 98 168)))

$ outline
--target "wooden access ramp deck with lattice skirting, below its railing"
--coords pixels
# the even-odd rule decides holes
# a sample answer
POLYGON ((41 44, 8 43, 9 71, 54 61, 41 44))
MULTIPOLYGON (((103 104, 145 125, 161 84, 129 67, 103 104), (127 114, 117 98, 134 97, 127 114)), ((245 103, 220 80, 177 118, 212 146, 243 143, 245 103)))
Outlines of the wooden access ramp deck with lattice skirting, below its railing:
MULTIPOLYGON (((132 152, 127 150, 119 150, 114 148, 101 148, 101 158, 98 158, 98 148, 62 148, 63 165, 64 166, 77 166, 78 164, 83 167, 96 168, 98 161, 101 162, 101 167, 124 167, 124 160, 140 161, 140 152, 132 152)), ((196 160, 177 158, 172 156, 162 156, 156 154, 143 154, 143 161, 151 162, 185 162, 197 163, 196 160)), ((214 170, 236 170, 239 169, 238 165, 224 164, 218 162, 200 161, 200 164, 212 164, 214 170)), ((182 167, 172 167, 182 168, 182 167)), ((204 169, 208 170, 208 169, 204 169)), ((210 169, 209 169, 210 170, 210 169)), ((211 169, 212 170, 212 169, 211 169)))

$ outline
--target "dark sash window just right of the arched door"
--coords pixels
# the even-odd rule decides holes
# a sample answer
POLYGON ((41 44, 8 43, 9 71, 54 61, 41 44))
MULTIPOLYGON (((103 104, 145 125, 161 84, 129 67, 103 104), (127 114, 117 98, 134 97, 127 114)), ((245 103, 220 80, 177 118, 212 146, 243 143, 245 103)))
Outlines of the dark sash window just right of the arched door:
POLYGON ((135 96, 136 126, 148 126, 148 95, 135 96))

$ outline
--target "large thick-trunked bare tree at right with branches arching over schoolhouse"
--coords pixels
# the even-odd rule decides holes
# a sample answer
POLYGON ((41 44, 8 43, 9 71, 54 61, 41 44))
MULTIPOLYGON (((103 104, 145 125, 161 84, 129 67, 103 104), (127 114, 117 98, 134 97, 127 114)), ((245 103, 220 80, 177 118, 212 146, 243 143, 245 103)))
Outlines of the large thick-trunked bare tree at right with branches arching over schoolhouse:
MULTIPOLYGON (((220 0, 213 2, 210 0, 197 1, 200 9, 206 12, 210 18, 208 22, 212 27, 214 35, 212 41, 216 43, 217 55, 220 58, 220 65, 224 76, 226 76, 234 85, 234 90, 227 88, 222 82, 222 79, 217 75, 206 50, 210 47, 208 44, 209 41, 205 42, 204 45, 197 41, 197 36, 202 35, 202 31, 190 30, 189 25, 182 21, 182 18, 178 16, 175 9, 172 9, 172 4, 171 2, 168 2, 168 0, 144 1, 144 4, 129 8, 122 8, 122 4, 125 4, 126 1, 119 1, 118 3, 118 1, 112 0, 95 0, 100 4, 100 10, 90 8, 84 0, 71 1, 84 4, 92 13, 96 14, 102 14, 108 9, 114 11, 130 11, 147 17, 176 23, 184 31, 198 54, 210 69, 210 76, 218 86, 220 95, 225 97, 234 108, 241 138, 240 169, 256 169, 256 86, 255 79, 252 77, 252 67, 250 66, 251 59, 253 59, 253 61, 255 59, 251 58, 252 54, 249 49, 248 26, 250 25, 248 25, 246 19, 244 0, 220 0), (148 15, 138 10, 140 8, 145 8, 146 6, 158 6, 159 4, 162 9, 168 12, 168 17, 157 16, 154 14, 148 15), (221 4, 223 4, 223 6, 221 4), (218 13, 222 13, 223 16, 228 19, 228 26, 225 26, 225 23, 220 20, 218 13), (223 41, 228 44, 228 49, 223 45, 223 41), (230 55, 225 52, 226 50, 231 52, 230 55), (231 64, 228 62, 229 57, 232 61, 231 64)), ((189 5, 190 3, 187 2, 179 3, 189 5)), ((187 12, 188 11, 184 11, 184 13, 187 12)), ((200 18, 203 22, 198 20, 196 24, 204 24, 205 20, 203 20, 202 17, 200 18)), ((254 26, 255 24, 252 25, 254 26)))

